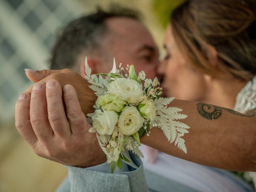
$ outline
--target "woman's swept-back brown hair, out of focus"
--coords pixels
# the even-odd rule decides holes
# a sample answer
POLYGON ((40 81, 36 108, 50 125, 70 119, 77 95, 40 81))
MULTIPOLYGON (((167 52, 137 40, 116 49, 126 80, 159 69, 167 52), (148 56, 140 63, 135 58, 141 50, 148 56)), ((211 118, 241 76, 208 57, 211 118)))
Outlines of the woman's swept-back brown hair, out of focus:
POLYGON ((256 75, 255 0, 187 0, 172 13, 171 26, 180 50, 202 72, 247 81, 256 75), (217 67, 209 62, 209 45, 221 61, 217 67))

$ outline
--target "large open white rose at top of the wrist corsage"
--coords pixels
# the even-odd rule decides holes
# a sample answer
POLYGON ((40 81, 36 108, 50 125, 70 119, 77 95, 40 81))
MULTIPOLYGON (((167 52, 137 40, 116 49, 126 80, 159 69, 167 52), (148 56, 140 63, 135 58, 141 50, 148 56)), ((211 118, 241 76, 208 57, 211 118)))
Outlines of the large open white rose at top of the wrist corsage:
POLYGON ((126 78, 117 78, 108 84, 108 92, 131 104, 140 102, 143 97, 142 85, 135 80, 126 78))

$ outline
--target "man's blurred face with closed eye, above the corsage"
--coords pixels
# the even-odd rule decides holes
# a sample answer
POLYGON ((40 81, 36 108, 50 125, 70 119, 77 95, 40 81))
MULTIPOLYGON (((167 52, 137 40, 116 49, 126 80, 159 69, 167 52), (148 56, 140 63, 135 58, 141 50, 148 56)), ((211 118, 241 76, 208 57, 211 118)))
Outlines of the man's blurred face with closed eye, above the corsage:
POLYGON ((159 53, 148 30, 138 21, 122 17, 108 19, 106 25, 110 36, 106 51, 107 46, 112 49, 108 58, 115 57, 117 67, 133 64, 136 72, 143 70, 146 78, 154 79, 159 53))

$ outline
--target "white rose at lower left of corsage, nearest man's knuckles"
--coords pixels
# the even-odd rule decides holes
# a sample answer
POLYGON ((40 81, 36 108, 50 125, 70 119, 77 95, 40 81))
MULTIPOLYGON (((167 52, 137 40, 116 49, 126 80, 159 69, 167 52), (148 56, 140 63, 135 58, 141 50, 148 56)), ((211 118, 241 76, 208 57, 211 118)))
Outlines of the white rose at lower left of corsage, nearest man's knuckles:
POLYGON ((110 110, 102 112, 101 110, 95 110, 95 114, 92 116, 92 125, 101 135, 111 135, 116 123, 118 121, 118 114, 110 110))

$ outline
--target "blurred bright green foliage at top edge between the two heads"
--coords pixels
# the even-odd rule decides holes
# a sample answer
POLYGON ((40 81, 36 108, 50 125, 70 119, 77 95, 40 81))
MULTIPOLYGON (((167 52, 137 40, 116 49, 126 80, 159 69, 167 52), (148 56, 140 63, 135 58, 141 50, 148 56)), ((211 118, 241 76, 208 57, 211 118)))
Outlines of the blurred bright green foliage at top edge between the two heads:
POLYGON ((154 0, 152 3, 153 9, 161 25, 166 28, 170 22, 172 11, 179 6, 184 0, 154 0))

